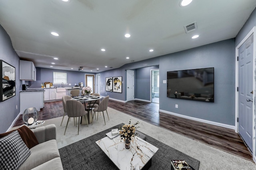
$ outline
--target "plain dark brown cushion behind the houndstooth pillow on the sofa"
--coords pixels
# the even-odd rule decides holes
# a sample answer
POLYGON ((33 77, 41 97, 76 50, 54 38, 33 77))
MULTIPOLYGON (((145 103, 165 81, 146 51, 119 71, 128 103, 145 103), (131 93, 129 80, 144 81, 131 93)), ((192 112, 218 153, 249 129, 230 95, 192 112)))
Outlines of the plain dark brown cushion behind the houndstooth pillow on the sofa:
MULTIPOLYGON (((20 134, 21 139, 24 141, 24 143, 27 145, 28 149, 31 149, 32 147, 38 145, 38 141, 36 139, 36 136, 34 133, 26 126, 22 126, 18 129, 15 129, 13 131, 18 131, 20 134)), ((6 135, 12 133, 13 131, 9 131, 6 133, 0 134, 0 138, 5 137, 6 135)))

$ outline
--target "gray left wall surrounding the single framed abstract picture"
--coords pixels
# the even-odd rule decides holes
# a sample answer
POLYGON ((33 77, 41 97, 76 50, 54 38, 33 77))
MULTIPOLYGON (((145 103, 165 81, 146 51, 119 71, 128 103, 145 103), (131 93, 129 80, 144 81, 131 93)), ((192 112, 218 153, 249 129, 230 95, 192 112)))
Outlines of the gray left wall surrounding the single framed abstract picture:
MULTIPOLYGON (((9 35, 0 25, 0 59, 15 67, 16 96, 0 102, 0 133, 6 132, 20 112, 20 58, 12 47, 9 35), (18 109, 16 109, 16 105, 18 109)), ((2 76, 2 75, 1 75, 2 76)))

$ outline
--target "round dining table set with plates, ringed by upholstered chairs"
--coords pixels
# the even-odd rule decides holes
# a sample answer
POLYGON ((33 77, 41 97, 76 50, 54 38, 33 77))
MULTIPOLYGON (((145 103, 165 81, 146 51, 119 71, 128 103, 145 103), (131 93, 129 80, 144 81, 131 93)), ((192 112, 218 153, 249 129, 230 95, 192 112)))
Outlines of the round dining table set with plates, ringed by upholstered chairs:
MULTIPOLYGON (((94 108, 93 106, 96 103, 96 101, 100 100, 101 98, 102 97, 100 97, 100 96, 89 96, 89 98, 86 98, 86 97, 83 97, 83 96, 78 96, 78 97, 72 98, 70 100, 77 100, 77 101, 79 101, 79 102, 84 104, 85 110, 88 111, 88 121, 89 121, 88 124, 90 124, 90 123, 92 123, 92 118, 93 118, 92 117, 92 108, 94 108), (86 108, 86 103, 87 102, 91 102, 91 104, 93 104, 91 108, 86 108)), ((86 123, 82 123, 82 122, 84 122, 84 121, 82 121, 82 119, 83 119, 83 116, 81 118, 81 122, 80 123, 82 125, 86 125, 86 123)))

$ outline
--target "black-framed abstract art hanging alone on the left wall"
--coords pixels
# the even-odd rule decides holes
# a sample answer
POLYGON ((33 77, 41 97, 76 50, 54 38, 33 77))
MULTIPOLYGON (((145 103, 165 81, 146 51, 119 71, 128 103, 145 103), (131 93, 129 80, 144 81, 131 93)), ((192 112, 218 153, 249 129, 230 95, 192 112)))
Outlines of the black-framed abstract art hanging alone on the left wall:
POLYGON ((16 95, 15 67, 0 60, 0 101, 3 102, 16 95))

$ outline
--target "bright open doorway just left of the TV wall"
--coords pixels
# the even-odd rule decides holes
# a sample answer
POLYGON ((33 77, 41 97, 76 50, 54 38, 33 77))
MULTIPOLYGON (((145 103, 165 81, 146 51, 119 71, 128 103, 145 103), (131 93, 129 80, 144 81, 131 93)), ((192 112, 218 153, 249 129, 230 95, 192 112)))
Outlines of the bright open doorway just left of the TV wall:
POLYGON ((152 103, 159 104, 159 69, 151 69, 150 71, 150 99, 152 103))

